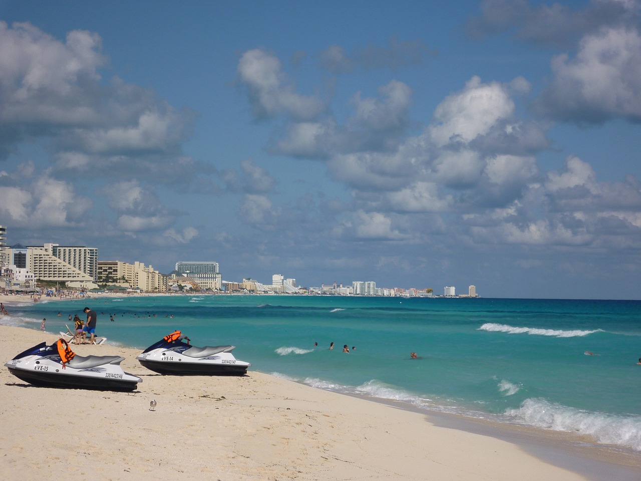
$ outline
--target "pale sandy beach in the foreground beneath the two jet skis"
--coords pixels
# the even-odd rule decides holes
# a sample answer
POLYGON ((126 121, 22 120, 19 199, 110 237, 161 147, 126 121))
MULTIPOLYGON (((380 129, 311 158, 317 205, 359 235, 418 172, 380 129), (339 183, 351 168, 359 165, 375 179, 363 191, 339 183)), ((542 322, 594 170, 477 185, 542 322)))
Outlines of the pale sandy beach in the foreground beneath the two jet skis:
MULTIPOLYGON (((51 343, 58 338, 22 327, 0 326, 0 332, 0 346, 6 353, 3 364, 38 342, 51 343)), ((0 466, 10 472, 17 469, 18 479, 24 466, 31 467, 28 478, 58 468, 66 473, 69 466, 88 462, 83 446, 98 444, 101 455, 92 457, 91 462, 97 462, 103 477, 130 479, 129 473, 138 472, 145 478, 160 479, 167 475, 161 469, 168 465, 164 460, 173 459, 172 449, 183 441, 190 447, 185 455, 194 457, 194 466, 199 466, 194 471, 185 467, 181 473, 185 479, 202 476, 199 469, 208 466, 212 441, 222 450, 233 446, 231 453, 216 457, 217 468, 212 474, 220 478, 226 473, 227 478, 240 480, 396 477, 507 481, 516 473, 526 480, 638 479, 638 462, 633 466, 623 459, 606 459, 592 446, 569 449, 564 436, 554 439, 531 429, 510 430, 462 416, 412 410, 395 401, 345 396, 257 371, 240 378, 160 376, 137 363, 138 350, 112 344, 73 346, 73 350, 79 355, 122 355, 126 358, 124 370, 144 381, 133 394, 51 389, 31 387, 4 368, 0 401, 6 409, 1 416, 11 416, 5 425, 17 427, 0 434, 4 451, 0 466), (158 400, 156 411, 160 413, 148 410, 151 399, 158 400), (95 411, 90 430, 83 416, 73 414, 76 407, 85 409, 86 405, 95 411), (38 416, 33 416, 34 412, 38 416), (39 437, 33 433, 44 430, 46 439, 56 439, 61 429, 80 446, 78 453, 51 443, 33 449, 39 437), (175 437, 174 430, 184 437, 175 437), (140 437, 151 444, 141 444, 140 437), (113 446, 103 446, 103 442, 113 446), (55 461, 58 450, 65 453, 59 466, 55 461), (104 450, 110 453, 105 459, 104 450), (132 464, 134 458, 125 453, 138 453, 136 462, 132 464), (124 467, 111 466, 114 456, 122 458, 124 467), (277 462, 281 456, 286 461, 277 462)), ((92 471, 80 470, 69 478, 79 480, 87 473, 92 471)))

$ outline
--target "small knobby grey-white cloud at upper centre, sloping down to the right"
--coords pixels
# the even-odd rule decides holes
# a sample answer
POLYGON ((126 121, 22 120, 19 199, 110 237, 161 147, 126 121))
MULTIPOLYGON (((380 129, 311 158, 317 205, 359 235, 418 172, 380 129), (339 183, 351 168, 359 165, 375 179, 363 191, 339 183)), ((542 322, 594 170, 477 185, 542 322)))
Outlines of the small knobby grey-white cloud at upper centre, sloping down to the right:
POLYGON ((294 119, 310 120, 324 109, 314 96, 297 94, 295 86, 283 72, 280 60, 264 49, 245 52, 238 62, 238 80, 247 89, 253 114, 269 118, 285 113, 294 119))

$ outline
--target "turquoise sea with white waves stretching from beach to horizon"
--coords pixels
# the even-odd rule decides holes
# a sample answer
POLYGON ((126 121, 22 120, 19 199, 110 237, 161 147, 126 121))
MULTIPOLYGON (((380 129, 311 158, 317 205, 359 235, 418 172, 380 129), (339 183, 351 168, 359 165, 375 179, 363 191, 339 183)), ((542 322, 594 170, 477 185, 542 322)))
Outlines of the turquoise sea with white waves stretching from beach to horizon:
POLYGON ((196 346, 237 346, 250 371, 641 451, 641 301, 151 296, 22 303, 0 322, 46 317, 57 333, 85 305, 123 346, 178 329, 196 346))

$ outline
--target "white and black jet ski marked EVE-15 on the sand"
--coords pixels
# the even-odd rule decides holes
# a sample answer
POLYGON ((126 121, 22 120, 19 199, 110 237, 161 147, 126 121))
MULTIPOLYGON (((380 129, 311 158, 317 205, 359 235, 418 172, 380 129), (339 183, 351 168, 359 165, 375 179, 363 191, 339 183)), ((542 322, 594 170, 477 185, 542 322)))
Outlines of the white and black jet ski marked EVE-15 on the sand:
POLYGON ((4 364, 29 384, 98 391, 133 391, 142 382, 122 370, 121 356, 79 356, 64 339, 41 342, 4 364))

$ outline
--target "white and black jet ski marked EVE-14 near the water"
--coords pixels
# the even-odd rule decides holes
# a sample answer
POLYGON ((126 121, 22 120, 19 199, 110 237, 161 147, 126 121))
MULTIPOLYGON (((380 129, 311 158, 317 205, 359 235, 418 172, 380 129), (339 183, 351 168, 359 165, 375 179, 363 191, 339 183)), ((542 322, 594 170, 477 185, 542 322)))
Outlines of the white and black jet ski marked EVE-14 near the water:
POLYGON ((231 351, 235 346, 197 348, 189 342, 190 339, 180 331, 172 332, 142 351, 136 359, 155 373, 173 375, 242 376, 251 366, 233 356, 231 351))

